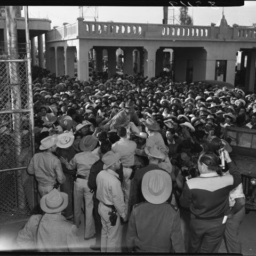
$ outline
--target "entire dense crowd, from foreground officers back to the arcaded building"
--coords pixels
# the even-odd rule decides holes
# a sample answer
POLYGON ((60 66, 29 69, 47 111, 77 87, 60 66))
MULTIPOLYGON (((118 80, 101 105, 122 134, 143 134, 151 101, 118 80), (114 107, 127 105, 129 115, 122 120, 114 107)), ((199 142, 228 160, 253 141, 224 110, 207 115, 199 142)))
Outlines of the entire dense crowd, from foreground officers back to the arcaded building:
MULTIPOLYGON (((191 213, 186 252, 218 252, 225 236, 228 252, 241 253, 244 195, 225 132, 227 126, 256 129, 256 94, 140 74, 93 73, 79 81, 48 73, 33 83, 36 154, 28 173, 43 202, 56 190, 48 199, 74 222, 72 237, 84 212, 84 239, 96 237, 93 250, 121 252, 121 224, 128 222, 128 252, 185 252, 185 209, 191 213), (214 138, 230 173, 219 167, 214 138), (65 208, 60 193, 67 195, 65 208)), ((21 246, 33 239, 27 233, 19 233, 21 246)))

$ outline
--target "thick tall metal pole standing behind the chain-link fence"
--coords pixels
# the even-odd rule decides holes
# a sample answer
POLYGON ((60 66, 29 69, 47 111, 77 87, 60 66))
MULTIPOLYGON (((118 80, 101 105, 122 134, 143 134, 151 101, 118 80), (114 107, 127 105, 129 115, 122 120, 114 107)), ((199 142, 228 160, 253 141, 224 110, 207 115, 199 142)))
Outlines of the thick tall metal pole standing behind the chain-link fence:
MULTIPOLYGON (((8 54, 12 59, 19 58, 18 52, 18 35, 17 35, 17 7, 6 6, 6 29, 7 29, 7 46, 8 54)), ((19 63, 9 63, 10 72, 10 87, 11 87, 11 99, 12 99, 12 121, 13 121, 13 139, 15 145, 15 157, 19 158, 22 150, 22 131, 21 131, 21 114, 15 113, 15 110, 19 110, 22 107, 21 103, 21 88, 20 88, 20 74, 19 63)), ((17 161, 17 165, 21 167, 21 163, 17 161)), ((25 209, 24 190, 21 182, 21 171, 17 171, 17 191, 18 191, 18 207, 25 209)))

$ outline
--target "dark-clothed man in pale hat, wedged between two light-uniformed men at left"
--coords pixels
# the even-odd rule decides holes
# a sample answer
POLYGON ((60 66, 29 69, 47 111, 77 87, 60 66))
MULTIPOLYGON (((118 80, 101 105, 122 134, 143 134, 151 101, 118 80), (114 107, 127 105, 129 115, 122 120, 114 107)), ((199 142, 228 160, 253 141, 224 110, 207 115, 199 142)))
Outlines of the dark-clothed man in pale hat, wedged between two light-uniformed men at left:
MULTIPOLYGON (((62 134, 58 135, 59 141, 57 142, 58 146, 58 158, 63 157, 67 158, 70 161, 75 155, 76 150, 73 147, 73 142, 75 140, 75 136, 72 132, 65 131, 62 134)), ((66 165, 61 163, 61 167, 63 173, 66 177, 66 181, 60 187, 60 191, 68 194, 68 206, 65 209, 65 217, 67 220, 72 219, 74 217, 73 214, 73 175, 76 173, 76 169, 68 170, 66 165)))

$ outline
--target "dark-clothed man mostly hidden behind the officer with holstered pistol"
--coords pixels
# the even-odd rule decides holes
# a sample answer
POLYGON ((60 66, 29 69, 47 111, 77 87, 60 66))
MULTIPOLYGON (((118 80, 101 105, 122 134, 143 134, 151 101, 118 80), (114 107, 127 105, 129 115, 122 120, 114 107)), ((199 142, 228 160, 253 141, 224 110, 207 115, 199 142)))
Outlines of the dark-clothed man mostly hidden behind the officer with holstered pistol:
MULTIPOLYGON (((103 170, 103 165, 104 163, 101 161, 101 158, 103 155, 105 155, 108 151, 111 150, 111 143, 110 141, 103 141, 100 145, 100 150, 99 150, 99 156, 100 159, 95 162, 90 170, 90 176, 88 180, 88 187, 91 189, 91 192, 93 194, 93 217, 95 221, 95 231, 96 231, 96 242, 95 245, 91 245, 90 248, 95 251, 100 250, 100 237, 101 237, 101 228, 102 228, 102 223, 100 219, 100 214, 98 212, 98 207, 99 207, 99 200, 96 198, 96 191, 97 191, 97 185, 96 185, 96 178, 99 172, 103 170)), ((119 175, 119 180, 121 181, 121 184, 123 182, 123 166, 122 164, 120 165, 119 170, 116 171, 116 173, 119 175)))

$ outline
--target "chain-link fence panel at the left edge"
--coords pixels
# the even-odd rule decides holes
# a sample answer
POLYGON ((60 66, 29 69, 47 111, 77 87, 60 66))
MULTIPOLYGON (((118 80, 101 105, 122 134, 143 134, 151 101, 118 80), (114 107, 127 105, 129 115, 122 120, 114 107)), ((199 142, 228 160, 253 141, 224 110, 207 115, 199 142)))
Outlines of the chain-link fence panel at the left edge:
POLYGON ((34 178, 26 172, 31 154, 26 59, 0 56, 0 223, 35 212, 34 178))

